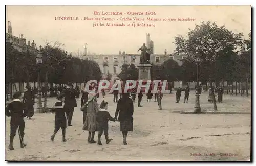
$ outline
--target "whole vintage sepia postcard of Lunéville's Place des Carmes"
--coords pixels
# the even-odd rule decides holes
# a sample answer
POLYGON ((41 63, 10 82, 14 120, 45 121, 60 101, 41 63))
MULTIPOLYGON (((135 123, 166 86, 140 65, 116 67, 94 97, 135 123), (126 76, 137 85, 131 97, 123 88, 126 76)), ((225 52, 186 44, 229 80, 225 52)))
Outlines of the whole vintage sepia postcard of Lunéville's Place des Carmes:
POLYGON ((6 6, 7 161, 251 161, 251 6, 6 6))

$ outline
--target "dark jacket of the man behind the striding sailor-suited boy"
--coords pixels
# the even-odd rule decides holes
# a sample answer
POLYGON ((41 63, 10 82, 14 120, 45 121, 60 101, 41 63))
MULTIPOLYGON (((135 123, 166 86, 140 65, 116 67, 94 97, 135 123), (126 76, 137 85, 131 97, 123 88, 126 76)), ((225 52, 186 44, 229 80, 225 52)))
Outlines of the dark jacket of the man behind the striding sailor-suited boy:
POLYGON ((67 108, 77 107, 75 89, 66 88, 65 90, 63 90, 63 93, 65 94, 66 107, 67 108))

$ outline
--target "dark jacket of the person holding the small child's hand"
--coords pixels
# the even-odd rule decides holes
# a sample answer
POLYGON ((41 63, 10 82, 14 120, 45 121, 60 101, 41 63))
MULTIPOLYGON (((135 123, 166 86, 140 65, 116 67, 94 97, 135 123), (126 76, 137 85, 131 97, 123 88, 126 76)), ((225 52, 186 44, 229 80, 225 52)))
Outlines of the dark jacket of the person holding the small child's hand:
POLYGON ((117 121, 133 120, 133 100, 129 97, 122 97, 117 102, 115 118, 118 116, 117 121))

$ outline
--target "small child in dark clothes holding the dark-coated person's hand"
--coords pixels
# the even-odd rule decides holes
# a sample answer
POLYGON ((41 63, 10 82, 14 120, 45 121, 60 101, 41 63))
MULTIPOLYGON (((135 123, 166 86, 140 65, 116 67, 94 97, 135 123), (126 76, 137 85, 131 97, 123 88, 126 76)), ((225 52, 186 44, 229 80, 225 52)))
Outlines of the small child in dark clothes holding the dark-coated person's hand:
POLYGON ((99 135, 98 135, 98 145, 102 145, 100 137, 103 134, 106 138, 106 144, 109 144, 112 139, 109 139, 109 120, 114 121, 115 119, 110 116, 110 113, 106 111, 108 109, 108 102, 105 102, 104 100, 100 104, 100 110, 97 112, 97 118, 96 121, 99 124, 99 135))

